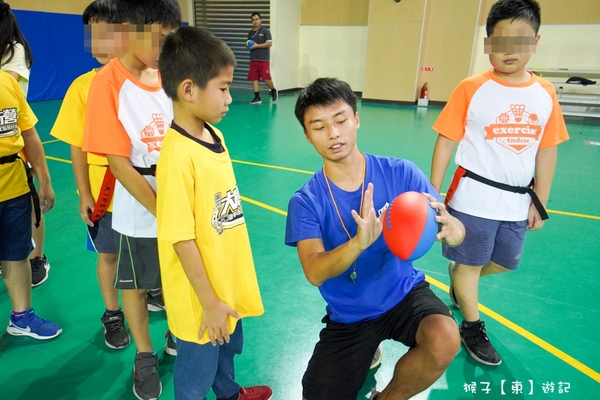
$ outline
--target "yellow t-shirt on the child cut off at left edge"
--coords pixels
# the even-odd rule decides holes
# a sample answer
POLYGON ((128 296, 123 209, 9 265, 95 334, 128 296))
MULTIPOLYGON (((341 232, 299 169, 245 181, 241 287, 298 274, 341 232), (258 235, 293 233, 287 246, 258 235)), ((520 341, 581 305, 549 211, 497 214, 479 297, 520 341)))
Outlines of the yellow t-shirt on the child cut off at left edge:
MULTIPOLYGON (((17 81, 0 71, 0 157, 19 153, 25 147, 22 131, 35 126, 31 111, 17 81)), ((0 201, 29 193, 25 166, 21 160, 0 165, 0 201)))

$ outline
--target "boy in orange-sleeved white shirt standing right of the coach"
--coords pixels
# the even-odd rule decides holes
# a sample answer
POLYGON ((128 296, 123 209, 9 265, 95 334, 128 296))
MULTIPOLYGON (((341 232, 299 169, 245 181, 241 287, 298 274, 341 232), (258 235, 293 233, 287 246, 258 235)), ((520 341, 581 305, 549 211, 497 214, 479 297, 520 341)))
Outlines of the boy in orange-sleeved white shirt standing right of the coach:
POLYGON ((527 229, 540 229, 548 218, 557 145, 569 138, 554 86, 525 69, 539 26, 535 0, 495 3, 485 39, 492 68, 463 80, 433 126, 439 136, 431 183, 438 191, 459 143, 446 203, 467 235, 442 252, 452 260, 450 299, 464 316, 461 341, 487 365, 502 359, 479 319, 479 278, 518 267, 527 229))

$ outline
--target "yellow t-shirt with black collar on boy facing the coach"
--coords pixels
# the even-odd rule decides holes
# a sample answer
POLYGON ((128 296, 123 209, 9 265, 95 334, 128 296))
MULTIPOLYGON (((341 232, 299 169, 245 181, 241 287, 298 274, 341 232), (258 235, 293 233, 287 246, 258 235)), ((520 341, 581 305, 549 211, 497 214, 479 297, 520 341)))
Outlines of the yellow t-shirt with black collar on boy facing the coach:
MULTIPOLYGON (((250 239, 227 148, 215 153, 172 126, 162 143, 157 183, 158 252, 169 329, 188 342, 209 341, 206 331, 198 340, 203 309, 173 247, 186 240, 195 241, 217 297, 242 317, 261 315, 250 239)), ((230 333, 236 323, 228 317, 230 333)))

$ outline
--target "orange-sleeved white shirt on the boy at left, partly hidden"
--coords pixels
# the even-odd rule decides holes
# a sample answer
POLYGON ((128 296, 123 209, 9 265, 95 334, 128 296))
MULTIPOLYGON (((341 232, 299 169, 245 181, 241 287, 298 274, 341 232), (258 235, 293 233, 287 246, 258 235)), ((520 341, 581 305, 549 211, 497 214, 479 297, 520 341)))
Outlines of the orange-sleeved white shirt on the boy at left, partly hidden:
MULTIPOLYGON (((172 120, 173 104, 160 83, 148 86, 140 82, 114 58, 98 72, 90 87, 83 151, 127 157, 135 167, 150 167, 158 162, 172 120)), ((144 178, 156 192, 156 178, 144 178)), ((112 223, 123 235, 156 237, 156 218, 118 181, 112 223)))

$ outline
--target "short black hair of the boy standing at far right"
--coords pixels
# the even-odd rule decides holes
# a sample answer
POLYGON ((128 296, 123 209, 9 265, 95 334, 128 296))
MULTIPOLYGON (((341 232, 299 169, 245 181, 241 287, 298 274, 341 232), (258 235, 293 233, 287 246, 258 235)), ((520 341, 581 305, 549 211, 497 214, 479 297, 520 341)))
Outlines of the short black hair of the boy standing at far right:
POLYGON ((537 35, 542 22, 542 11, 535 0, 500 0, 494 3, 488 14, 485 30, 488 37, 494 33, 498 22, 505 19, 526 21, 537 35))

